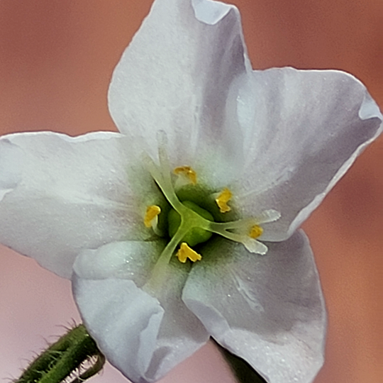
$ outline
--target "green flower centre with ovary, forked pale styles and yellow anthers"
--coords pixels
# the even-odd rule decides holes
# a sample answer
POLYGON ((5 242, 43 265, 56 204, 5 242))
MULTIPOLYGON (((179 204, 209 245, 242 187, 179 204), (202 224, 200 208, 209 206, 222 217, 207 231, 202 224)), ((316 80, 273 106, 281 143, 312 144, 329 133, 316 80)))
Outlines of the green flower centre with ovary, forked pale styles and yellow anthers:
MULTIPOLYGON (((187 258, 192 262, 201 260, 202 255, 192 248, 205 243, 213 234, 242 243, 250 252, 261 255, 267 252, 266 245, 257 240, 263 232, 260 224, 277 220, 280 216, 277 211, 263 211, 258 218, 225 221, 222 216, 232 210, 229 204, 233 194, 228 188, 209 194, 199 186, 197 174, 191 167, 176 167, 172 174, 165 150, 160 148, 159 157, 159 166, 148 159, 148 170, 171 209, 167 212, 167 233, 170 240, 160 255, 158 267, 167 265, 174 253, 180 262, 186 262, 187 258), (176 192, 177 184, 182 187, 176 192)), ((145 226, 152 227, 155 233, 158 232, 160 214, 159 206, 148 206, 145 213, 145 226)))

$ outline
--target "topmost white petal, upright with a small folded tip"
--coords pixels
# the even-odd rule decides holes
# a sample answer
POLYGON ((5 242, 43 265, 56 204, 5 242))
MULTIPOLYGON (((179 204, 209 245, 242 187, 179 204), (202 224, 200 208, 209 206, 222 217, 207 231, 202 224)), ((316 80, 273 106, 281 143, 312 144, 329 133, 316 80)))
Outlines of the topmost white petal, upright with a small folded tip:
POLYGON ((203 163, 206 172, 222 173, 211 171, 210 177, 228 177, 242 166, 243 138, 227 99, 246 65, 234 6, 157 0, 113 73, 111 115, 121 132, 147 145, 152 158, 157 132, 165 131, 172 165, 199 170, 194 162, 203 163))

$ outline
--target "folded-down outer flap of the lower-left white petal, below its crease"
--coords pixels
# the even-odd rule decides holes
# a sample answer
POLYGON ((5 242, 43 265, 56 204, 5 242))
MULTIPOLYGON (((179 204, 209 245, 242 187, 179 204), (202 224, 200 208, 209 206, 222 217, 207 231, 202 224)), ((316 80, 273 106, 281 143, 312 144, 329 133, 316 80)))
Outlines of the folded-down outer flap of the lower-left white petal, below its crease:
POLYGON ((84 324, 118 370, 133 382, 152 359, 164 309, 129 279, 74 278, 74 296, 84 324))

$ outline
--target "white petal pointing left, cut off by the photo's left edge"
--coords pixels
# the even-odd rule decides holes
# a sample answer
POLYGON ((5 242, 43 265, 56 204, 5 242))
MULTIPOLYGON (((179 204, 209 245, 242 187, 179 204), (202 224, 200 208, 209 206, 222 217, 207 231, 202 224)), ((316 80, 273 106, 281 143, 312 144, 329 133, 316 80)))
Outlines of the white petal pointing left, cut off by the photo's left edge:
POLYGON ((127 148, 118 133, 3 136, 0 242, 69 278, 80 250, 141 238, 127 148))

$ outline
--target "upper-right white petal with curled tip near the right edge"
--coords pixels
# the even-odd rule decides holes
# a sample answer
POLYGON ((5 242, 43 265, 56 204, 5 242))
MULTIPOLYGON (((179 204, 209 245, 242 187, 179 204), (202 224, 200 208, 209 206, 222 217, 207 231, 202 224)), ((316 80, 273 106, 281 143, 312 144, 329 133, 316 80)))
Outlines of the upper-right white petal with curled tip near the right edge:
POLYGON ((237 86, 247 165, 233 192, 246 215, 279 211, 262 239, 283 240, 382 132, 382 114, 344 72, 255 71, 237 86))

